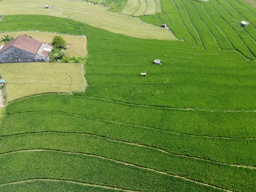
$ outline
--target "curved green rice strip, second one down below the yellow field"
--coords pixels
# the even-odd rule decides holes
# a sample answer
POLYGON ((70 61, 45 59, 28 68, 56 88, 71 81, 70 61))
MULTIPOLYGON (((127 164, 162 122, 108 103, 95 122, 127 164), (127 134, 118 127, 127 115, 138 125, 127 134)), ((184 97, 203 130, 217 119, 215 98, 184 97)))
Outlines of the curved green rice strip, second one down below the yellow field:
MULTIPOLYGON (((100 120, 97 118, 81 115, 78 116, 72 113, 69 115, 59 112, 35 112, 24 113, 23 115, 24 117, 28 117, 30 115, 31 119, 38 121, 37 123, 31 123, 32 125, 29 125, 27 121, 21 122, 23 127, 28 127, 24 128, 24 133, 45 131, 50 132, 55 130, 56 132, 73 133, 73 131, 75 131, 78 133, 99 135, 102 137, 108 137, 114 140, 121 140, 129 143, 139 143, 141 145, 151 146, 155 149, 161 149, 173 154, 180 154, 188 157, 198 157, 200 159, 228 164, 256 166, 255 157, 251 157, 253 152, 250 152, 253 151, 253 148, 256 146, 255 139, 251 140, 218 137, 195 137, 195 135, 177 134, 170 131, 160 131, 144 126, 125 125, 121 122, 111 122, 105 119, 100 120), (51 117, 47 118, 46 114, 48 114, 48 116, 51 114, 51 117), (40 115, 42 115, 42 117, 39 117, 40 115), (59 120, 54 122, 54 117, 59 118, 59 120), (83 117, 84 120, 81 122, 83 117), (65 118, 70 120, 79 120, 80 122, 70 122, 64 120, 65 118), (95 121, 94 126, 93 120, 95 121), (63 122, 67 122, 66 128, 63 125, 63 122), (44 124, 45 126, 41 126, 44 124), (51 124, 55 125, 55 127, 51 124), (96 125, 97 127, 95 127, 96 125), (72 130, 72 126, 76 127, 76 129, 72 130), (35 130, 34 127, 37 127, 38 130, 35 130), (161 140, 158 138, 161 138, 161 140), (202 148, 201 146, 204 147, 202 148), (239 150, 237 146, 239 146, 239 150), (212 148, 212 150, 209 151, 209 148, 212 148)), ((12 117, 18 119, 12 123, 15 131, 17 132, 16 123, 20 122, 21 116, 16 115, 12 117)), ((11 124, 8 121, 3 122, 5 129, 8 123, 11 124)))

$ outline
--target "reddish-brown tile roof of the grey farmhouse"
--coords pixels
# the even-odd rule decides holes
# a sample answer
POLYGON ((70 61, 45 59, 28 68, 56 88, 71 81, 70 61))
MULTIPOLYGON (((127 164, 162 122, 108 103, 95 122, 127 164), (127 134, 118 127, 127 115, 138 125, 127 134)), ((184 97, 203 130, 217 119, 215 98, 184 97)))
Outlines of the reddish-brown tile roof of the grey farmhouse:
POLYGON ((31 52, 36 54, 38 49, 41 47, 42 42, 37 41, 33 38, 30 38, 26 35, 19 35, 17 38, 14 38, 12 41, 7 42, 2 49, 0 49, 0 53, 9 49, 10 47, 17 47, 19 49, 23 49, 27 52, 31 52))

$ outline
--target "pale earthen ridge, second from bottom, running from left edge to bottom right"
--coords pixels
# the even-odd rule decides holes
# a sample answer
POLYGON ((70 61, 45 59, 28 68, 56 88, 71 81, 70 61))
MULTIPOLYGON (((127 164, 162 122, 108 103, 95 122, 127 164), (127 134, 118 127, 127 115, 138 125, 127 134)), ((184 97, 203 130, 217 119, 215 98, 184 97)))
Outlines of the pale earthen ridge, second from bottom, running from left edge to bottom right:
MULTIPOLYGON (((212 188, 215 188, 215 189, 219 189, 219 190, 222 190, 222 191, 225 191, 225 192, 233 192, 233 191, 230 191, 230 190, 227 190, 227 189, 220 188, 218 186, 210 185, 210 184, 207 184, 207 183, 201 183, 201 182, 198 182, 196 180, 192 180, 192 179, 182 177, 182 176, 179 176, 179 175, 172 175, 172 174, 169 174, 167 172, 161 172, 161 171, 157 171, 156 169, 151 169, 151 168, 147 168, 147 167, 143 167, 143 166, 138 166, 138 165, 133 164, 133 163, 118 161, 118 160, 114 160, 114 159, 111 159, 111 158, 108 158, 108 157, 102 157, 100 155, 95 155, 95 154, 87 154, 87 153, 81 153, 81 152, 68 152, 68 151, 61 151, 61 150, 55 150, 55 149, 31 149, 31 150, 10 151, 10 152, 7 152, 5 154, 17 153, 17 152, 27 152, 27 151, 58 151, 60 153, 66 153, 66 154, 78 154, 78 155, 85 155, 85 156, 90 156, 90 157, 98 157, 98 158, 102 158, 102 159, 105 159, 105 160, 110 160, 110 161, 113 161, 113 162, 116 162, 116 163, 121 163, 121 164, 124 164, 126 166, 133 166, 133 167, 136 167, 136 168, 139 168, 139 169, 144 169, 144 170, 156 172, 156 173, 159 173, 159 174, 169 175, 171 177, 180 178, 180 179, 187 180, 187 181, 197 183, 197 184, 200 184, 200 185, 209 186, 209 187, 212 187, 212 188)), ((0 154, 0 155, 5 155, 5 154, 0 154)))

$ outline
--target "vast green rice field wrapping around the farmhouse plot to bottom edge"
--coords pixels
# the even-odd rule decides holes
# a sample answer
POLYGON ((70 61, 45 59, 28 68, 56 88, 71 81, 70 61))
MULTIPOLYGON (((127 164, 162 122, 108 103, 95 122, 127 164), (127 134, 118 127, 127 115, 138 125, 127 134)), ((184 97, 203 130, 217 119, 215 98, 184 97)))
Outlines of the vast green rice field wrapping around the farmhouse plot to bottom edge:
POLYGON ((0 23, 13 27, 86 34, 88 86, 7 106, 0 191, 256 191, 256 63, 245 53, 194 49, 189 38, 129 38, 57 17, 0 23))

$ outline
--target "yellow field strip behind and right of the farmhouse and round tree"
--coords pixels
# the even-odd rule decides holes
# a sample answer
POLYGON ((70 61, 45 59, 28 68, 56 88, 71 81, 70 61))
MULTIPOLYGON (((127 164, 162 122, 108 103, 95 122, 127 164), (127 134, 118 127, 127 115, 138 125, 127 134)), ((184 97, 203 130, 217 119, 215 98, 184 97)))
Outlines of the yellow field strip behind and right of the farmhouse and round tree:
MULTIPOLYGON (((55 33, 47 33, 47 32, 35 32, 35 31, 26 31, 26 32, 6 32, 6 33, 0 33, 0 38, 3 37, 3 35, 11 35, 14 38, 19 35, 28 35, 32 38, 44 42, 44 43, 50 43, 52 42, 52 39, 55 35, 55 33)), ((67 44, 69 44, 67 53, 70 56, 87 56, 87 41, 85 36, 75 36, 75 35, 60 35, 63 37, 67 44)), ((0 45, 4 44, 3 42, 0 43, 0 45)))

